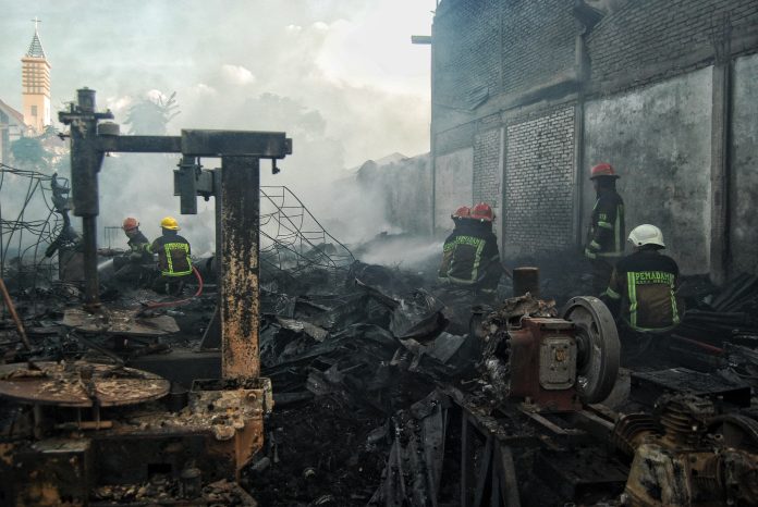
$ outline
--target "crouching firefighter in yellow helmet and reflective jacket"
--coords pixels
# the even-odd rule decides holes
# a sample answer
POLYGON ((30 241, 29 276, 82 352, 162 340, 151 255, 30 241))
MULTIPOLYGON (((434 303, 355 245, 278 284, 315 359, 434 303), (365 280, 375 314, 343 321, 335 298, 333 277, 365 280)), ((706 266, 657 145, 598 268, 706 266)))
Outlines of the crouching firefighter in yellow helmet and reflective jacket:
POLYGON ((179 223, 173 217, 161 220, 160 228, 162 235, 145 249, 158 255, 160 277, 154 288, 159 293, 173 294, 181 290, 183 282, 192 274, 190 242, 179 235, 179 223))

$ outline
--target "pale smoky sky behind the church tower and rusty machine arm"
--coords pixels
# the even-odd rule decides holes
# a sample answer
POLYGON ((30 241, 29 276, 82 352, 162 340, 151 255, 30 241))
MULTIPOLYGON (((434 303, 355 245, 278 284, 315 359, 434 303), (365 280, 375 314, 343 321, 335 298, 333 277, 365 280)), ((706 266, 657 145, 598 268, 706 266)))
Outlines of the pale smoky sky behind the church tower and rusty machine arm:
MULTIPOLYGON (((21 97, 19 58, 32 35, 27 20, 39 15, 53 109, 88 86, 126 132, 123 123, 135 103, 175 91, 180 114, 167 125, 169 135, 182 128, 286 132, 294 153, 280 162, 277 176, 261 164, 261 184, 290 187, 320 221, 341 224, 330 231, 338 238, 392 230, 384 223, 384 199, 357 187, 337 190, 335 182, 344 180, 345 168, 367 159, 428 150, 429 48, 412 46, 409 36, 429 33, 432 0, 3 3, 11 22, 0 69, 17 76, 0 84, 7 102, 20 107, 20 99, 10 100, 21 97), (74 30, 63 23, 70 18, 77 20, 74 30), (347 209, 362 211, 345 219, 347 209)), ((179 212, 171 174, 176 161, 106 159, 101 226, 134 215, 155 237, 160 219, 179 212)), ((212 199, 198 208, 198 215, 178 219, 200 253, 213 246, 212 199)))

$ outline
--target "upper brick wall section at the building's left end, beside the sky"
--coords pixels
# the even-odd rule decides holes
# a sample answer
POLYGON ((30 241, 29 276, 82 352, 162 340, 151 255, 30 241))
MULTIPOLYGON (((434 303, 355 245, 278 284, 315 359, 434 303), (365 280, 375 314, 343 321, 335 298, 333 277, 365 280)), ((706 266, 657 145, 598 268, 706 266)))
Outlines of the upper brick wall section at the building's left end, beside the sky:
POLYGON ((457 0, 435 17, 435 95, 444 108, 523 92, 571 71, 574 0, 457 0))

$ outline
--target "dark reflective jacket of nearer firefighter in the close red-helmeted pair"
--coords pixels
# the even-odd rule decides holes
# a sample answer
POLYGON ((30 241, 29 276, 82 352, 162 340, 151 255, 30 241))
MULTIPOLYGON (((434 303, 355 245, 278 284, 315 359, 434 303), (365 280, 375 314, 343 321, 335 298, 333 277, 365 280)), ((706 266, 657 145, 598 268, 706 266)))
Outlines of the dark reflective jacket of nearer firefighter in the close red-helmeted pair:
POLYGON ((502 267, 491 222, 460 219, 442 247, 439 279, 454 285, 492 292, 502 267))

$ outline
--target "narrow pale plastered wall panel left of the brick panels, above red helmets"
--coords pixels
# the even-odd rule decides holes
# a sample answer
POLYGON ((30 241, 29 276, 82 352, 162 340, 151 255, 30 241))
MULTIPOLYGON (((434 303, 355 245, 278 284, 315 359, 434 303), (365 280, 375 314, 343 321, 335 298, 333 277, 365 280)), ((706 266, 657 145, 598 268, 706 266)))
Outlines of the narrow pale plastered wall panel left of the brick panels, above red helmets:
POLYGON ((464 148, 437 157, 435 178, 435 225, 452 228, 450 214, 474 201, 474 150, 464 148))

